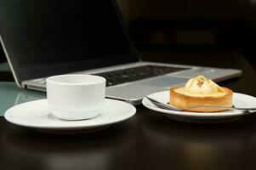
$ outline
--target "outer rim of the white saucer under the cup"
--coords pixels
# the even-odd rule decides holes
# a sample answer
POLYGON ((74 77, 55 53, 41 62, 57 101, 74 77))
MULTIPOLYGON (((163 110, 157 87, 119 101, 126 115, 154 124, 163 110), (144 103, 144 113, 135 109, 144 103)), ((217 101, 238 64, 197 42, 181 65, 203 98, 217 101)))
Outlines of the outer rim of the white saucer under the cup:
MULTIPOLYGON (((29 101, 29 102, 26 102, 26 103, 22 103, 20 105, 14 105, 13 107, 11 107, 7 111, 5 111, 4 118, 8 122, 11 122, 11 123, 13 123, 15 125, 18 125, 18 126, 21 126, 21 127, 53 129, 53 130, 76 130, 76 129, 92 129, 92 128, 95 128, 95 127, 109 126, 109 125, 117 123, 117 122, 122 122, 122 121, 128 120, 128 118, 134 116, 137 112, 134 105, 130 105, 126 102, 123 102, 123 101, 120 101, 120 100, 117 100, 117 99, 105 99, 105 102, 107 102, 107 101, 113 101, 113 102, 117 102, 119 104, 122 103, 122 105, 128 105, 130 107, 130 111, 123 114, 122 116, 114 117, 110 121, 106 121, 106 122, 103 122, 103 123, 94 122, 94 123, 90 123, 89 125, 86 124, 86 121, 88 121, 90 119, 80 120, 80 121, 64 121, 64 120, 60 120, 59 118, 56 117, 56 120, 58 120, 58 121, 63 121, 63 122, 85 122, 85 123, 83 125, 81 125, 81 124, 79 124, 79 125, 69 124, 69 125, 61 125, 61 126, 60 125, 58 125, 58 126, 56 126, 56 125, 54 125, 54 126, 42 126, 42 125, 35 125, 35 124, 31 124, 31 123, 26 123, 26 122, 15 122, 15 120, 10 116, 11 110, 13 110, 14 107, 16 107, 16 106, 27 105, 28 103, 32 103, 32 102, 47 102, 47 99, 37 99, 37 100, 32 100, 32 101, 29 101)), ((50 114, 52 115, 52 113, 50 113, 50 114)), ((94 118, 92 118, 92 119, 94 119, 94 118)))

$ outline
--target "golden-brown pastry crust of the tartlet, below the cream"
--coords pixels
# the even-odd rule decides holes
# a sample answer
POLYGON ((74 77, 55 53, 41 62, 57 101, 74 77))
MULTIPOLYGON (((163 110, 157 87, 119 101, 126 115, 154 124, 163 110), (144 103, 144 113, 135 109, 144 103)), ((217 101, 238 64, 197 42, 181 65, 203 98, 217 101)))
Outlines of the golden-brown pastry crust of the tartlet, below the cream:
POLYGON ((170 104, 174 105, 185 111, 196 111, 196 112, 216 112, 225 111, 225 109, 208 108, 208 107, 197 107, 187 109, 191 105, 218 105, 231 107, 232 106, 232 95, 233 92, 229 88, 221 87, 225 90, 225 94, 221 96, 191 96, 187 94, 179 94, 175 91, 176 88, 170 89, 170 104))

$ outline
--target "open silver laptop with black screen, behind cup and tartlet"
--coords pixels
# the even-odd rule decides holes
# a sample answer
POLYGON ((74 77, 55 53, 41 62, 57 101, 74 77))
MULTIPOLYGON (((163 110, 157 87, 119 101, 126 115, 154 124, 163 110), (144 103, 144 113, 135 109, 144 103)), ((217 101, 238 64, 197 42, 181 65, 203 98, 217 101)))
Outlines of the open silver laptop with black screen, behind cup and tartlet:
POLYGON ((242 71, 143 62, 114 0, 0 0, 0 39, 20 88, 46 90, 60 74, 105 77, 106 97, 133 105, 148 94, 204 75, 215 81, 242 71))

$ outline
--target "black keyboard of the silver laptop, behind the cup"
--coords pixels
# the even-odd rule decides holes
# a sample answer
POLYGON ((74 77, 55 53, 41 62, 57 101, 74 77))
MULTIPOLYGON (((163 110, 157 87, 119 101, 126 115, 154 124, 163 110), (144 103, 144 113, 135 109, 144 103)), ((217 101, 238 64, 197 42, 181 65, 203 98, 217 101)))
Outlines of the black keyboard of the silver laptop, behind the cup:
POLYGON ((188 68, 158 66, 158 65, 145 65, 122 69, 117 71, 108 71, 95 76, 105 77, 106 87, 122 84, 124 82, 134 82, 137 80, 161 76, 175 71, 185 71, 188 68))

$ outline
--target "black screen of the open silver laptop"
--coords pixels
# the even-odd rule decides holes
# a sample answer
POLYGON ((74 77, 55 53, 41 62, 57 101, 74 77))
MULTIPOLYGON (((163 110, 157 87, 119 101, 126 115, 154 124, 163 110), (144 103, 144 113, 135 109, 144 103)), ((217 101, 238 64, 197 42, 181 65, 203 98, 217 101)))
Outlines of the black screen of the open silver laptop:
POLYGON ((0 0, 0 35, 20 81, 139 60, 112 0, 0 0))

